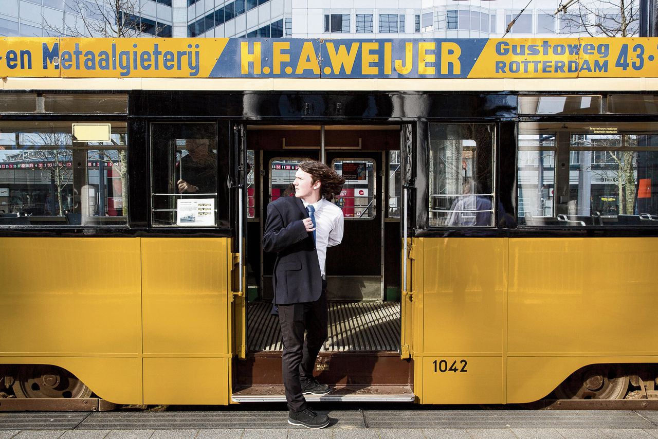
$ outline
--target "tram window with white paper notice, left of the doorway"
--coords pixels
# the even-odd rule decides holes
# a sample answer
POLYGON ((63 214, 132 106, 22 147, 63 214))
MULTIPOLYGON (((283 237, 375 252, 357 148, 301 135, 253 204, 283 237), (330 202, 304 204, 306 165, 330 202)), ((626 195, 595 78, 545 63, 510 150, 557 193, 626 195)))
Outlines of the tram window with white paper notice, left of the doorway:
POLYGON ((227 172, 228 157, 218 157, 216 124, 152 124, 151 225, 216 227, 218 219, 228 219, 218 161, 227 172))

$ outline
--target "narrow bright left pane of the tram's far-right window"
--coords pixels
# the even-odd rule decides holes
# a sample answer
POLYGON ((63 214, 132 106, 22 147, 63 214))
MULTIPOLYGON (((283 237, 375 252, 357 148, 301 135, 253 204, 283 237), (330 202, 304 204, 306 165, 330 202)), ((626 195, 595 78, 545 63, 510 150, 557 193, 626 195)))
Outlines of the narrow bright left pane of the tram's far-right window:
POLYGON ((519 225, 555 217, 555 133, 519 134, 519 225))

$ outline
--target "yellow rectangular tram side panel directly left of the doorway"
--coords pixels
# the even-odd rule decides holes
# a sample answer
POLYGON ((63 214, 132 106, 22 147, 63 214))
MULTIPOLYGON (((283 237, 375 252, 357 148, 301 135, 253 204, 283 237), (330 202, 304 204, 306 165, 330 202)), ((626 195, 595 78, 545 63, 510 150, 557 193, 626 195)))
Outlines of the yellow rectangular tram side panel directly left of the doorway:
POLYGON ((144 403, 228 404, 228 238, 143 238, 144 403))

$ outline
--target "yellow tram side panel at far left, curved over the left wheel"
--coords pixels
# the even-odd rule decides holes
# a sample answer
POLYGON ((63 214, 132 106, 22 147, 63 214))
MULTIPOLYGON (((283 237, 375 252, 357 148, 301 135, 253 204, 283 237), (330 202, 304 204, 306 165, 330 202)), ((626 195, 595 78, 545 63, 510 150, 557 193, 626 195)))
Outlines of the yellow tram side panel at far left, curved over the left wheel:
POLYGON ((0 363, 51 364, 141 403, 139 238, 1 238, 0 363))

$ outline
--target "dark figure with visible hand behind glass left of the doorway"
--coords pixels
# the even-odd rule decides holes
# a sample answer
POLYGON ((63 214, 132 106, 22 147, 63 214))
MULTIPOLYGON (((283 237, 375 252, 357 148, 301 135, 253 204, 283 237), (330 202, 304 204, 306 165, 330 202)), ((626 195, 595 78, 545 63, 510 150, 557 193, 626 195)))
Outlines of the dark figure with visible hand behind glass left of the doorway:
POLYGON ((217 155, 211 151, 210 140, 188 139, 185 147, 188 154, 180 160, 178 193, 215 194, 217 155))

